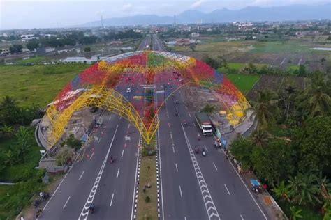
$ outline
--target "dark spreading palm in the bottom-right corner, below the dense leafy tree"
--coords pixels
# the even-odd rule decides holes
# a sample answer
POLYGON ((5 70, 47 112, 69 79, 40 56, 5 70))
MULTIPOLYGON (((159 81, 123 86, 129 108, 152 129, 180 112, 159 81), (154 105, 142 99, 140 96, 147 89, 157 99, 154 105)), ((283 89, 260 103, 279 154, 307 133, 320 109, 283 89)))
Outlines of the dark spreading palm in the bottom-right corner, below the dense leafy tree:
POLYGON ((317 197, 320 189, 316 184, 316 175, 298 173, 294 178, 290 176, 288 182, 288 187, 290 188, 288 196, 293 203, 297 203, 298 205, 321 203, 317 197))

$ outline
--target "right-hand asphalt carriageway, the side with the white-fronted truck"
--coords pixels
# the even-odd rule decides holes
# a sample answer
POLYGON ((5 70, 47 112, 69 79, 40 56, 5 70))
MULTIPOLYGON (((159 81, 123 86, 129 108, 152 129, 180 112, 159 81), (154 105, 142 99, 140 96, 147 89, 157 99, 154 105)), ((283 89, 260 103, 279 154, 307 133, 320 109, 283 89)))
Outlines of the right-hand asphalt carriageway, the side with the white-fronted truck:
MULTIPOLYGON (((161 86, 156 90, 163 90, 161 86)), ((175 86, 168 86, 165 94, 173 90, 175 86)), ((214 136, 198 141, 200 130, 183 97, 184 91, 175 93, 159 116, 163 219, 267 219, 223 150, 214 148, 214 136), (179 104, 174 104, 176 99, 179 104), (182 126, 184 120, 187 126, 182 126), (207 157, 193 152, 194 146, 200 152, 206 148, 207 157)))

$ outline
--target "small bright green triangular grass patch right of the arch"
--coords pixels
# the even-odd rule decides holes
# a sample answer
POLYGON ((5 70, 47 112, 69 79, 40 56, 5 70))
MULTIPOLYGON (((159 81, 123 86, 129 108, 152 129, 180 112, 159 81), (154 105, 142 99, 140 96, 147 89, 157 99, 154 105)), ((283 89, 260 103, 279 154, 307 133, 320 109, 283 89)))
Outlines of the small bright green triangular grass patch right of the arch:
POLYGON ((248 93, 248 91, 253 88, 256 81, 260 79, 257 75, 247 74, 226 74, 226 77, 244 94, 248 93))

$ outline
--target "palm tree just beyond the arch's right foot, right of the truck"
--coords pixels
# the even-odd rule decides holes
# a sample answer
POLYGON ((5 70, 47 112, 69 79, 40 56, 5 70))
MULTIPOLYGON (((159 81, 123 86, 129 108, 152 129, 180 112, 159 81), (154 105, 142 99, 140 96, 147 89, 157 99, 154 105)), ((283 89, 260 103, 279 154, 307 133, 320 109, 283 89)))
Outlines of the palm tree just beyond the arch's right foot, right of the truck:
POLYGON ((278 95, 273 91, 259 91, 257 102, 253 104, 260 127, 267 127, 268 123, 279 116, 278 95))

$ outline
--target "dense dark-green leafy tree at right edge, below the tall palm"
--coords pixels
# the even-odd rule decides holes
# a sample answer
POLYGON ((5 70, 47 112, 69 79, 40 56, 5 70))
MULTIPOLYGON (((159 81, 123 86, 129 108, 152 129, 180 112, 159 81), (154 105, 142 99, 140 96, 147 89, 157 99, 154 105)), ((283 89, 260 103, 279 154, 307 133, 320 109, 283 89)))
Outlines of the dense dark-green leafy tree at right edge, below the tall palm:
POLYGON ((292 137, 297 168, 302 172, 330 171, 331 117, 316 117, 297 127, 292 137))

